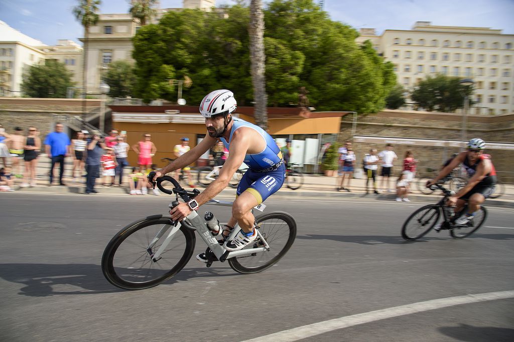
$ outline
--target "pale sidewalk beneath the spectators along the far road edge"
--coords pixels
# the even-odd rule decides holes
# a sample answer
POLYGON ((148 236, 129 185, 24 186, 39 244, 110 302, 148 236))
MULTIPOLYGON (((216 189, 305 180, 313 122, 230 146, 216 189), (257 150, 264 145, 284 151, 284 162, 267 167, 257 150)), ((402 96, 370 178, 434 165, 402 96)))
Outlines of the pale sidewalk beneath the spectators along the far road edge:
MULTIPOLYGON (((40 157, 41 158, 41 157, 40 157)), ((38 163, 38 174, 37 186, 34 187, 19 187, 20 181, 17 181, 15 185, 16 191, 27 192, 27 193, 53 193, 53 194, 84 194, 85 185, 83 183, 73 183, 70 178, 71 175, 71 164, 65 163, 65 177, 64 183, 66 186, 52 185, 48 186, 48 172, 50 164, 46 157, 41 158, 38 163)), ((380 178, 380 177, 379 177, 380 178)), ((395 179, 395 178, 393 178, 395 179)), ((85 180, 85 179, 84 179, 85 180)), ((396 198, 395 193, 381 192, 380 194, 365 194, 365 180, 364 179, 352 179, 351 192, 336 191, 337 177, 325 177, 319 175, 303 175, 303 185, 297 190, 288 189, 286 184, 273 195, 273 198, 303 198, 306 200, 342 200, 342 199, 366 199, 366 200, 391 200, 394 201, 396 198)), ((434 192, 432 195, 424 195, 417 191, 417 180, 414 180, 412 184, 413 193, 409 195, 411 201, 424 201, 424 202, 437 202, 440 199, 438 192, 434 192)), ((378 181, 380 184, 380 181, 378 181)), ((390 186, 394 186, 395 182, 391 181, 390 186)), ((182 184, 185 186, 186 184, 182 184)), ((188 186, 185 186, 189 189, 188 186)), ((103 187, 97 186, 98 195, 119 195, 119 196, 137 196, 129 195, 128 189, 123 187, 103 187)), ((203 187, 198 187, 200 191, 203 187)), ((491 206, 505 206, 514 207, 514 186, 511 184, 505 185, 505 194, 498 199, 488 199, 486 204, 491 206)), ((150 192, 145 196, 155 196, 150 192)), ((96 195, 96 196, 98 196, 96 195)), ((227 187, 220 194, 224 197, 235 196, 235 189, 227 187)), ((161 194, 161 196, 165 196, 161 194)), ((139 196, 143 197, 143 196, 139 196)))

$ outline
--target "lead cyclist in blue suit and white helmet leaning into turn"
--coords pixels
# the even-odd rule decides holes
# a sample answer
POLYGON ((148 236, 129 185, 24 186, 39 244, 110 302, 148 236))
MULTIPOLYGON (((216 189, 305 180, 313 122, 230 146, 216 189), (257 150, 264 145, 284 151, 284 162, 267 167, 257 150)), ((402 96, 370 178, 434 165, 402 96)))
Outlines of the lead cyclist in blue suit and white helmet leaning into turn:
MULTIPOLYGON (((237 222, 241 230, 235 237, 224 243, 227 251, 241 250, 255 240, 255 218, 251 209, 262 203, 271 194, 278 191, 284 183, 285 166, 280 148, 265 130, 241 119, 233 118, 232 112, 237 103, 230 90, 214 90, 200 103, 200 114, 205 117, 208 135, 176 160, 156 171, 154 181, 173 170, 185 167, 206 153, 216 142, 221 140, 230 151, 225 164, 203 193, 189 203, 180 203, 170 210, 173 220, 182 220, 198 206, 219 194, 229 183, 235 171, 245 162, 249 169, 237 186, 237 198, 232 205, 232 217, 223 229, 223 238, 227 239, 230 230, 237 222)), ((205 254, 196 257, 207 262, 205 254)))

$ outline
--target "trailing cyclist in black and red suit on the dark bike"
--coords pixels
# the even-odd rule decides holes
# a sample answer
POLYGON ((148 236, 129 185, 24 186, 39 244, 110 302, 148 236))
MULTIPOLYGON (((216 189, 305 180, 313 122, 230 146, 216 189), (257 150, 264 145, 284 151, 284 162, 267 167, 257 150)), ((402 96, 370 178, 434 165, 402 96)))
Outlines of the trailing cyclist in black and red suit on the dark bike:
MULTIPOLYGON (((482 155, 484 148, 485 142, 482 139, 471 139, 467 150, 458 154, 440 170, 434 179, 427 182, 427 187, 437 183, 462 163, 470 178, 463 188, 448 198, 447 202, 449 206, 457 206, 455 212, 460 212, 465 202, 468 202, 467 213, 455 220, 457 225, 463 225, 472 220, 474 213, 479 210, 480 204, 484 203, 485 199, 494 192, 496 171, 491 161, 482 155)), ((437 227, 434 228, 438 230, 437 227)))

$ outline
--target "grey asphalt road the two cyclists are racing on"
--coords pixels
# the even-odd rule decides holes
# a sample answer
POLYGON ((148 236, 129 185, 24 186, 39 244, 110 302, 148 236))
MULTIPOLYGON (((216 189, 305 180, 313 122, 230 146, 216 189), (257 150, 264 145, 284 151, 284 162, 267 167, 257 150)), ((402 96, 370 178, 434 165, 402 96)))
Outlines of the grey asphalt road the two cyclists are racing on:
POLYGON ((125 224, 166 213, 168 202, 0 193, 0 339, 514 340, 514 210, 489 207, 485 227, 463 240, 431 232, 406 242, 401 224, 426 203, 268 200, 266 212, 298 223, 272 268, 241 275, 193 257, 158 287, 113 287, 100 269, 105 245, 125 224))

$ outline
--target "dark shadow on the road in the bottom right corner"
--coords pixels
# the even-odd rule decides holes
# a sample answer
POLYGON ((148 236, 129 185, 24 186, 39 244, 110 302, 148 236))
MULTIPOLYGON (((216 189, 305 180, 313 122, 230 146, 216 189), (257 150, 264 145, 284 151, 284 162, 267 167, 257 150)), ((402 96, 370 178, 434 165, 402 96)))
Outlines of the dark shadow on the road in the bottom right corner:
POLYGON ((514 329, 497 327, 473 327, 462 324, 458 327, 442 327, 438 330, 448 337, 468 342, 510 342, 514 340, 514 329))

